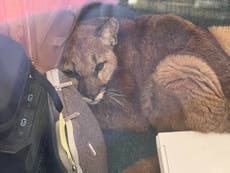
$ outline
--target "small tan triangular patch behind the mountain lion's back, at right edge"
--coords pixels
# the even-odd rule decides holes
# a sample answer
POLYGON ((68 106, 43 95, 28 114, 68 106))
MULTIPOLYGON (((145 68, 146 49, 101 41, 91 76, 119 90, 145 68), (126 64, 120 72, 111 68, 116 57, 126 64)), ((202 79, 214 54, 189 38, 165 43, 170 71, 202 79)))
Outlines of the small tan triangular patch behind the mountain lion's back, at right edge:
POLYGON ((230 26, 212 26, 209 31, 216 37, 221 47, 230 56, 230 26))

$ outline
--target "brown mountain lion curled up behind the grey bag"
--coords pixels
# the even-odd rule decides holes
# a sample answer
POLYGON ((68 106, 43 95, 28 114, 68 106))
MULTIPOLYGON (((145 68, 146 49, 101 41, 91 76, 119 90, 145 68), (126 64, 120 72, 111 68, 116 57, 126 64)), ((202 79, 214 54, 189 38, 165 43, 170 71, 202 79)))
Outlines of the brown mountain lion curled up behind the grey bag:
POLYGON ((80 21, 63 57, 104 129, 230 131, 230 57, 181 17, 80 21))

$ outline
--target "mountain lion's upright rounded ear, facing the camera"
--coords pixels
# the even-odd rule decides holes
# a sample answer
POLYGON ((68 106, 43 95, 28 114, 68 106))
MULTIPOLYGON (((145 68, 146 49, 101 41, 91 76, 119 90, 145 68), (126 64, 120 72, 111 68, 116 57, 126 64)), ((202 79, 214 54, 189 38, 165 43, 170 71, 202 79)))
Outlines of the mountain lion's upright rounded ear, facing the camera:
POLYGON ((101 41, 109 46, 117 44, 117 32, 119 30, 119 23, 115 18, 109 18, 104 25, 99 29, 97 35, 101 41))

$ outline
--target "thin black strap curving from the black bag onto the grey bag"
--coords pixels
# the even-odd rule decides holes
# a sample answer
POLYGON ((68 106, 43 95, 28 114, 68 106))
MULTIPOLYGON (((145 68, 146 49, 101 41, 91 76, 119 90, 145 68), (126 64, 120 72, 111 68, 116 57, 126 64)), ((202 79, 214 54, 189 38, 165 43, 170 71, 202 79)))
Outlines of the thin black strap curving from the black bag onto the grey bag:
POLYGON ((31 76, 34 78, 38 83, 41 84, 43 88, 45 88, 51 99, 53 100, 54 106, 58 112, 61 112, 63 109, 63 104, 61 99, 58 96, 57 91, 53 87, 53 85, 46 79, 45 76, 43 76, 41 73, 39 73, 33 65, 31 65, 31 76))

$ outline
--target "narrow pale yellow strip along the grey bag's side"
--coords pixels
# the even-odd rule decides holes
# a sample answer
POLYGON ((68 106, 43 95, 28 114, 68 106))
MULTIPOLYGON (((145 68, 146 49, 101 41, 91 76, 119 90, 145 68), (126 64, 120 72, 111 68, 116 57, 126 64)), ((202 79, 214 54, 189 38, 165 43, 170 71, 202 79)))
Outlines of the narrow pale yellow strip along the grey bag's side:
POLYGON ((66 126, 65 119, 63 117, 63 114, 60 113, 59 114, 59 135, 60 135, 61 146, 65 150, 68 159, 71 161, 71 164, 75 165, 75 163, 72 159, 72 156, 70 154, 70 150, 69 150, 69 146, 68 146, 68 142, 67 142, 67 137, 66 137, 65 126, 66 126))

